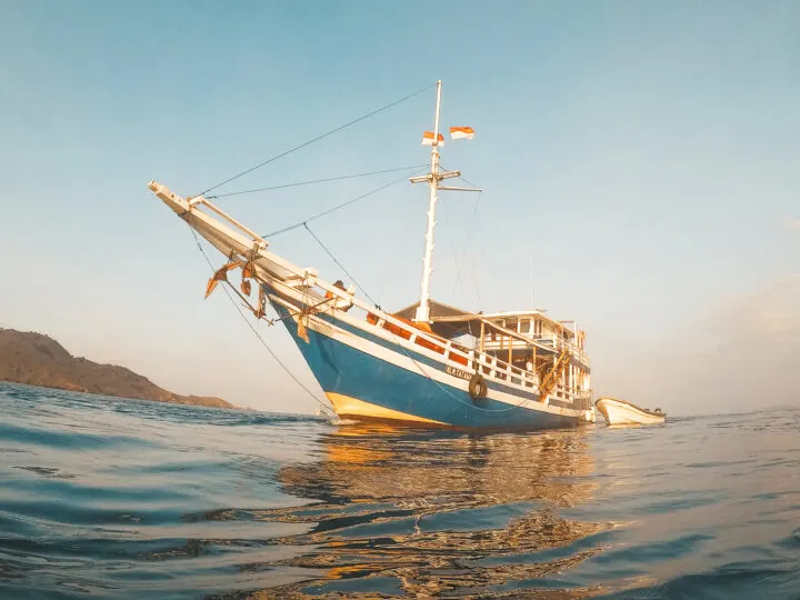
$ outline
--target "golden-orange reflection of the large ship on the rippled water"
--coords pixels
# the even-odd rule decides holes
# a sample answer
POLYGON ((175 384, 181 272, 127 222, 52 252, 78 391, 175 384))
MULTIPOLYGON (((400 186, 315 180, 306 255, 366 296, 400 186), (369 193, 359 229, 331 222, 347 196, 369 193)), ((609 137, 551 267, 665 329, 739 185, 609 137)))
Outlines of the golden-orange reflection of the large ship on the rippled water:
MULTIPOLYGON (((253 514, 313 526, 277 541, 308 547, 281 564, 317 569, 319 577, 263 594, 486 597, 511 593, 507 584, 539 589, 540 578, 596 553, 580 541, 609 527, 561 514, 593 494, 586 436, 342 427, 322 440, 322 460, 279 473, 286 492, 317 503, 253 514)), ((558 581, 538 597, 598 591, 558 581)))

